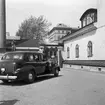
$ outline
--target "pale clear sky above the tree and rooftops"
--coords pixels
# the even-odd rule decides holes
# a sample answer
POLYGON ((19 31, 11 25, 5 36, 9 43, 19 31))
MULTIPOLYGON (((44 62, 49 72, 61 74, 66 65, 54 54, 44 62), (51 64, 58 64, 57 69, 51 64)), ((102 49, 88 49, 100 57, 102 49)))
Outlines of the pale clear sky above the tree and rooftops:
POLYGON ((25 19, 40 15, 52 23, 50 30, 58 23, 78 27, 89 8, 97 8, 97 0, 6 0, 6 32, 15 36, 25 19))

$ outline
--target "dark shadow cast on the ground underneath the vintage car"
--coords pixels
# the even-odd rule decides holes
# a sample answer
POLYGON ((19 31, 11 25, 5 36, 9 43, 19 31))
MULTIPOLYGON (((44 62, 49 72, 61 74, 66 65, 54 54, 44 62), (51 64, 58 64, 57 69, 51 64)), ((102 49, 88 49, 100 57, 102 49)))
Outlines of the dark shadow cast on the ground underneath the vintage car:
MULTIPOLYGON (((36 81, 34 83, 43 82, 45 80, 49 80, 49 79, 53 79, 53 78, 59 78, 61 76, 62 75, 59 75, 58 77, 54 77, 53 75, 47 75, 47 76, 37 77, 37 79, 36 79, 36 81)), ((23 86, 23 85, 30 85, 30 84, 27 84, 24 81, 13 81, 13 82, 9 82, 9 83, 3 83, 3 82, 1 82, 0 85, 23 86)))

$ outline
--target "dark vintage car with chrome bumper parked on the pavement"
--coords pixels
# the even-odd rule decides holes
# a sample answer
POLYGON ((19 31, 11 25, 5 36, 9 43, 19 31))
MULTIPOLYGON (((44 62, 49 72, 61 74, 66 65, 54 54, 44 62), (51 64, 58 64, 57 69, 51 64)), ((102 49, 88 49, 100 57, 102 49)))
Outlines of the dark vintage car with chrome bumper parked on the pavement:
POLYGON ((7 52, 0 60, 0 80, 3 82, 24 80, 33 83, 38 76, 58 76, 59 71, 57 63, 45 60, 43 53, 38 51, 7 52))

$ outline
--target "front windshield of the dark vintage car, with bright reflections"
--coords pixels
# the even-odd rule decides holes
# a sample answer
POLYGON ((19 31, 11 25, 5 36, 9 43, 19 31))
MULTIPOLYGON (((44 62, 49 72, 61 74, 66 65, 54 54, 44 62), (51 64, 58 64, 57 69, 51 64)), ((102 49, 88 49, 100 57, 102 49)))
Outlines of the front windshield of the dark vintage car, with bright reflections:
POLYGON ((15 60, 15 59, 23 59, 23 54, 20 53, 8 53, 2 57, 2 60, 15 60))

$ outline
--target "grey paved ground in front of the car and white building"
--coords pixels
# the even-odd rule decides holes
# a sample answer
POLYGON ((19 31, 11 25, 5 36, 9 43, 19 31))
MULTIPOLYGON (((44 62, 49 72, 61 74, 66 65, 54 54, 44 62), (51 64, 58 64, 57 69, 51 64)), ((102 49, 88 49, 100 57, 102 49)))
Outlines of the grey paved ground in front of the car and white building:
POLYGON ((105 74, 63 69, 33 84, 0 82, 0 105, 105 105, 105 74))

